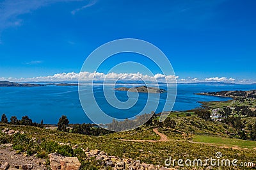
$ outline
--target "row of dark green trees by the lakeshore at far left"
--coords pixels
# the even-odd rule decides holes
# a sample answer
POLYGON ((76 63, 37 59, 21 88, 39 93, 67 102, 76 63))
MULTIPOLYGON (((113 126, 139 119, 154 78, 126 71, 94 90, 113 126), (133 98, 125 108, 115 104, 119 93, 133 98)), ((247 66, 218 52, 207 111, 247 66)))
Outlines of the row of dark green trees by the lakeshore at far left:
POLYGON ((16 116, 12 116, 10 118, 10 121, 8 121, 6 114, 2 114, 1 123, 10 123, 11 125, 28 125, 34 127, 43 127, 44 125, 43 120, 41 121, 41 123, 33 123, 33 121, 28 116, 22 116, 21 120, 18 120, 16 116))

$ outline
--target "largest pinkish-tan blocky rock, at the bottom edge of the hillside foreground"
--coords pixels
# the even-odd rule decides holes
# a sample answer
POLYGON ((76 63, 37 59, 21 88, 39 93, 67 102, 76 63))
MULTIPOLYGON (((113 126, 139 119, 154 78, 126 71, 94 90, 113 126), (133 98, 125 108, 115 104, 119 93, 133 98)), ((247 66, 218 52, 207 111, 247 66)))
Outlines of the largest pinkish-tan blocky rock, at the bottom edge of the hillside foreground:
POLYGON ((63 157, 58 153, 48 155, 52 170, 78 170, 81 166, 77 157, 63 157))

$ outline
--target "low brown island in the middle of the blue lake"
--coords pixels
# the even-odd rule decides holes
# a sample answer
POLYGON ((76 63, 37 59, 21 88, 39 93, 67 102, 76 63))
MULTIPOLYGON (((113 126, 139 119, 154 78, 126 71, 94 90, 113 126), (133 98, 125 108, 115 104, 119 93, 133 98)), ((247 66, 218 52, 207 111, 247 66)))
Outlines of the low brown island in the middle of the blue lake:
POLYGON ((147 86, 140 86, 136 88, 126 88, 126 87, 120 87, 115 88, 115 90, 118 91, 131 91, 131 92, 139 92, 139 93, 165 93, 165 89, 159 89, 154 87, 147 87, 147 86))

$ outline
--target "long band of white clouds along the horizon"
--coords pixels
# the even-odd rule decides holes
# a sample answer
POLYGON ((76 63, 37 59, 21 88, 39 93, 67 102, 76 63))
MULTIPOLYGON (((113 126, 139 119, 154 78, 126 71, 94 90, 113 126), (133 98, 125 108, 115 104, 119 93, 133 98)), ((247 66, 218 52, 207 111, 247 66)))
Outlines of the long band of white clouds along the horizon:
POLYGON ((80 79, 82 81, 89 81, 89 80, 95 80, 95 81, 158 81, 158 82, 164 82, 164 79, 166 79, 167 82, 237 82, 237 83, 252 83, 250 80, 236 80, 232 77, 208 77, 205 79, 198 79, 196 77, 188 77, 186 79, 180 78, 177 75, 163 75, 161 73, 157 73, 154 76, 152 75, 143 75, 142 73, 100 73, 100 72, 68 72, 68 73, 56 73, 54 75, 48 75, 48 76, 38 76, 38 77, 21 77, 21 78, 15 78, 15 77, 0 77, 0 81, 15 81, 15 82, 44 82, 44 81, 78 81, 80 79), (93 78, 94 76, 94 78, 93 78), (250 81, 250 82, 249 82, 250 81))

